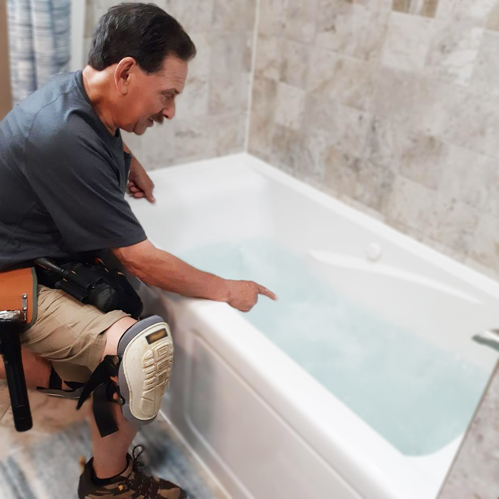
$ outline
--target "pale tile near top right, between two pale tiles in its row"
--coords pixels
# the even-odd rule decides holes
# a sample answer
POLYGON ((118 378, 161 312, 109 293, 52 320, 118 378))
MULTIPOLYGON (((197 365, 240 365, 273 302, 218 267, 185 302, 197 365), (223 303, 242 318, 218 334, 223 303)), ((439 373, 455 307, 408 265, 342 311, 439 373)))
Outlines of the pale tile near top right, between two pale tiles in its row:
POLYGON ((484 34, 470 21, 438 20, 427 57, 428 74, 442 81, 468 85, 484 34))

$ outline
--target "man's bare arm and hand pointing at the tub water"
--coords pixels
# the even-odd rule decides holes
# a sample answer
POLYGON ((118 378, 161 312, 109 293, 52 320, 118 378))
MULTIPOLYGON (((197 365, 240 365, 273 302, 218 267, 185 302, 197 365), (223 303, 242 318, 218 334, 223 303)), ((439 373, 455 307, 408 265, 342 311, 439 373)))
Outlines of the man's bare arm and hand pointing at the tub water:
POLYGON ((112 251, 129 272, 146 284, 183 296, 225 301, 244 312, 256 303, 258 294, 276 299, 274 293, 256 282, 223 279, 203 272, 166 251, 158 250, 149 240, 112 251))

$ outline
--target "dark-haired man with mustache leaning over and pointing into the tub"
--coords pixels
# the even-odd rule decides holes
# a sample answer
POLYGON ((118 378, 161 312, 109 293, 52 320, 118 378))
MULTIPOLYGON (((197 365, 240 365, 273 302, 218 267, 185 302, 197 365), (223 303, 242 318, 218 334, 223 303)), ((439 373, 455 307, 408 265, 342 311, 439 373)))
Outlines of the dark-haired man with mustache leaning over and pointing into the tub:
MULTIPOLYGON (((174 117, 195 53, 182 27, 159 7, 117 5, 100 19, 83 71, 56 75, 2 120, 0 269, 30 265, 40 256, 77 260, 110 249, 144 282, 184 296, 226 301, 243 311, 258 294, 275 299, 255 282, 202 272, 155 248, 124 200, 128 180, 134 196, 154 199, 152 182, 128 154, 119 130, 140 135, 174 117)), ((27 384, 85 383, 106 355, 123 351, 128 371, 145 369, 126 354, 142 339, 142 322, 39 286, 37 320, 21 338, 27 384)), ((149 354, 143 344, 141 355, 149 354)), ((129 372, 120 376, 120 388, 131 386, 129 372)), ((102 438, 91 422, 93 458, 80 478, 80 499, 186 497, 178 486, 137 470, 127 450, 136 433, 134 417, 140 417, 126 419, 114 407, 115 433, 102 438)))

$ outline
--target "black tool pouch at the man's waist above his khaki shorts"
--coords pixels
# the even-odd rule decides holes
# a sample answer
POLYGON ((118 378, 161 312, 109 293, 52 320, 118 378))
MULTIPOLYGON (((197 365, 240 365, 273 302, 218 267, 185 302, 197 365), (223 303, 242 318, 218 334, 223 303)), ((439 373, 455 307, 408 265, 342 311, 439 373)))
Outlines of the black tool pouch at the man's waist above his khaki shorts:
POLYGON ((123 310, 134 319, 142 312, 142 301, 125 275, 107 268, 101 260, 56 264, 49 258, 37 258, 35 264, 40 284, 62 289, 82 303, 103 312, 123 310))

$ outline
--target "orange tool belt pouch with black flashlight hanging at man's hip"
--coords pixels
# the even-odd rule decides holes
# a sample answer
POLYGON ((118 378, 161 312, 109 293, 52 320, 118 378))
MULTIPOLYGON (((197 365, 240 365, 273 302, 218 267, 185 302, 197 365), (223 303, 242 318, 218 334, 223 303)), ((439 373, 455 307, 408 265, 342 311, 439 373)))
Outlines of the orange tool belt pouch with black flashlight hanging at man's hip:
POLYGON ((17 431, 26 431, 33 426, 22 367, 20 334, 36 320, 36 297, 34 268, 0 272, 0 353, 17 431))

